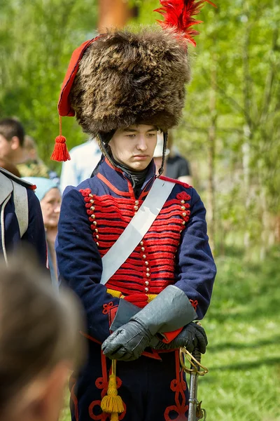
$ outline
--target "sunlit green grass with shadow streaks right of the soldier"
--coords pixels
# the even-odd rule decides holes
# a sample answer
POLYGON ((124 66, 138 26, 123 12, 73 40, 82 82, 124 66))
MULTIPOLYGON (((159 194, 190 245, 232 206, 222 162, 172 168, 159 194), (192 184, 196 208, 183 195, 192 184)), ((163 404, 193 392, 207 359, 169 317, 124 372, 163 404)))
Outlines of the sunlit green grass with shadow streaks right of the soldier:
MULTIPOLYGON (((258 264, 240 253, 216 264, 198 399, 207 421, 280 421, 280 250, 258 264)), ((60 421, 69 419, 65 409, 60 421)))

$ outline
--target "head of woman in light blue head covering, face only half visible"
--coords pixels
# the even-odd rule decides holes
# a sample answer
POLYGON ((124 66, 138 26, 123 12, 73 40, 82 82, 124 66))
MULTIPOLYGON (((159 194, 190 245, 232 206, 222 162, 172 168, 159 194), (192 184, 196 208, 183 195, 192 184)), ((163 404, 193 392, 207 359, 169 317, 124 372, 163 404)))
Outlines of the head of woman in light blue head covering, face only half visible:
POLYGON ((35 194, 41 203, 45 228, 56 228, 62 200, 57 183, 43 177, 24 177, 24 180, 36 185, 35 194))

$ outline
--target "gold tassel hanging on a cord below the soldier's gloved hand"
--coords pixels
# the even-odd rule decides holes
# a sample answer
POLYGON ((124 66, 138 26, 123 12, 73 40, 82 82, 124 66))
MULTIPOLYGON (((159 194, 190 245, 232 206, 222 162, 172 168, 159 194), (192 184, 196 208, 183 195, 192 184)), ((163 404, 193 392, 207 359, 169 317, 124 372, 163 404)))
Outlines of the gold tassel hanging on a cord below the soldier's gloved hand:
POLYGON ((106 396, 101 401, 101 408, 103 412, 111 414, 111 421, 118 421, 118 414, 125 410, 123 400, 118 396, 116 360, 112 361, 112 372, 109 376, 108 390, 106 396))

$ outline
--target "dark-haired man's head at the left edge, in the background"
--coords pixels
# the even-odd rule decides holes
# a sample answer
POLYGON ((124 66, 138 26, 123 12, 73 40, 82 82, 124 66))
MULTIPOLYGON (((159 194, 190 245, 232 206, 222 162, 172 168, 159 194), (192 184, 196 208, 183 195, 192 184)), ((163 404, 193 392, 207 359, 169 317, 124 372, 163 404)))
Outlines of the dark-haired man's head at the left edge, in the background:
POLYGON ((0 158, 17 163, 22 151, 25 130, 16 119, 3 119, 0 121, 0 158))

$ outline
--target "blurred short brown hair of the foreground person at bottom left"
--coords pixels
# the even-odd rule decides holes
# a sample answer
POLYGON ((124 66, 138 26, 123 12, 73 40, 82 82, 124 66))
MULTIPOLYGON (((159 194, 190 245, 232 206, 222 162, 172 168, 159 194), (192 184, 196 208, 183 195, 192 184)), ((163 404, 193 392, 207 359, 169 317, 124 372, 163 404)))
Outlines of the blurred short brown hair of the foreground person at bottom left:
POLYGON ((0 263, 0 419, 32 380, 61 361, 78 368, 85 351, 77 299, 69 290, 55 293, 27 259, 0 263))

